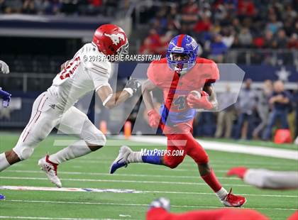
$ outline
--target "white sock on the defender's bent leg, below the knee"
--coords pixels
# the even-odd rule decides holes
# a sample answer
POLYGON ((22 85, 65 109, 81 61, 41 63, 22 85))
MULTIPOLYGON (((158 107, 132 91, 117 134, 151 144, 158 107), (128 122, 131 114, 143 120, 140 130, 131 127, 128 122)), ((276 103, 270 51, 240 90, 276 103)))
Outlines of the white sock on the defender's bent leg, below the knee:
POLYGON ((57 153, 50 155, 49 160, 53 163, 63 163, 67 160, 72 160, 74 158, 79 158, 88 153, 91 153, 92 150, 88 147, 85 141, 77 141, 74 144, 64 148, 57 153))

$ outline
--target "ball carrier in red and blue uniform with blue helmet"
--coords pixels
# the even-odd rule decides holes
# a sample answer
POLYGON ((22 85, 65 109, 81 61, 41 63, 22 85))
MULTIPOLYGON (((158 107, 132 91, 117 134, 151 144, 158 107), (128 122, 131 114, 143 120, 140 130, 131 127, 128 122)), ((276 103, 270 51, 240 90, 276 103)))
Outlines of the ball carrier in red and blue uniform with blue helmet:
POLYGON ((219 79, 217 65, 197 57, 197 43, 189 35, 177 35, 170 41, 167 57, 153 61, 148 67, 148 80, 143 84, 143 100, 148 110, 149 124, 153 128, 159 125, 167 136, 167 150, 183 150, 183 155, 142 155, 133 152, 127 146, 121 147, 119 155, 111 165, 111 173, 128 163, 150 163, 175 168, 189 155, 199 168, 199 174, 220 201, 228 207, 241 207, 245 198, 227 192, 209 165, 209 158, 192 136, 192 121, 196 109, 216 109, 217 101, 212 83, 219 79), (160 88, 164 94, 164 103, 160 114, 154 109, 150 92, 160 88), (192 94, 199 90, 199 98, 192 94))

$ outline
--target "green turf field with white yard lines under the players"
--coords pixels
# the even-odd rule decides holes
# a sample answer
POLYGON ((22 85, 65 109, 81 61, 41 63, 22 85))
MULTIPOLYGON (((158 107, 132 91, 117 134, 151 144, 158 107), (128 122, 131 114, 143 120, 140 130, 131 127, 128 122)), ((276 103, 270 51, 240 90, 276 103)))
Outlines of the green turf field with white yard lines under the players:
MULTIPOLYGON (((67 137, 48 137, 29 160, 1 172, 0 185, 53 187, 39 170, 37 161, 45 153, 55 153, 62 148, 53 146, 53 143, 65 138, 67 137)), ((10 149, 17 139, 17 133, 0 133, 0 152, 10 149)), ((1 190, 0 193, 6 195, 6 200, 0 202, 0 218, 31 216, 37 219, 144 219, 148 204, 157 197, 170 198, 171 210, 174 212, 222 207, 211 189, 199 177, 191 158, 186 158, 175 170, 157 165, 133 164, 109 175, 109 166, 118 155, 121 144, 133 145, 133 150, 165 148, 129 141, 109 141, 105 148, 95 153, 60 165, 58 175, 62 179, 62 185, 136 189, 142 193, 1 190)), ((223 186, 227 189, 233 187, 233 192, 247 197, 245 208, 257 209, 271 219, 286 219, 294 209, 298 209, 298 190, 260 190, 245 185, 236 178, 225 177, 225 172, 233 166, 298 170, 297 161, 210 150, 208 153, 211 165, 223 186)))

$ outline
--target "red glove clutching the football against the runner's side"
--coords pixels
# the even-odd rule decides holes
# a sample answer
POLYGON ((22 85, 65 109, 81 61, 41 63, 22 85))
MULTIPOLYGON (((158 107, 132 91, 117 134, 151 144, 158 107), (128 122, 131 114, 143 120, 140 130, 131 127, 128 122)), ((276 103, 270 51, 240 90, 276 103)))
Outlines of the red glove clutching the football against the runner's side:
POLYGON ((194 94, 188 94, 187 105, 192 109, 208 109, 214 108, 213 104, 209 101, 209 94, 202 91, 202 97, 198 98, 194 94))

